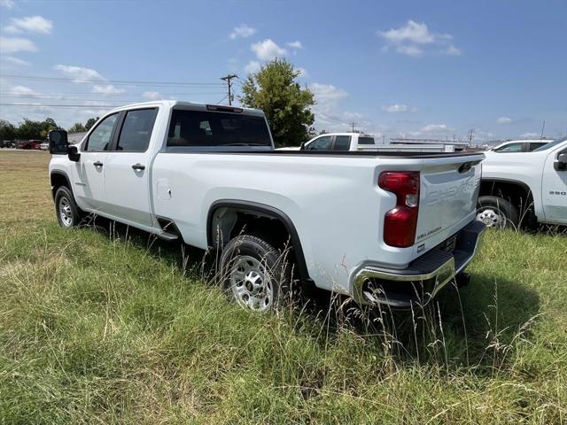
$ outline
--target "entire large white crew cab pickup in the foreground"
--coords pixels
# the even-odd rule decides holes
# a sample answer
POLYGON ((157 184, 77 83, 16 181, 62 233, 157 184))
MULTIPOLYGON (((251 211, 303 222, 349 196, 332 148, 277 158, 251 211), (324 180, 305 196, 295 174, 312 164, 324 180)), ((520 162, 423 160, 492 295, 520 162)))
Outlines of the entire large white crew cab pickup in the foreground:
POLYGON ((276 151, 258 110, 128 105, 81 143, 51 132, 50 152, 62 227, 94 213, 220 251, 223 288, 257 311, 281 305, 296 276, 407 307, 416 287, 429 299, 461 276, 485 229, 475 220, 482 154, 276 151))

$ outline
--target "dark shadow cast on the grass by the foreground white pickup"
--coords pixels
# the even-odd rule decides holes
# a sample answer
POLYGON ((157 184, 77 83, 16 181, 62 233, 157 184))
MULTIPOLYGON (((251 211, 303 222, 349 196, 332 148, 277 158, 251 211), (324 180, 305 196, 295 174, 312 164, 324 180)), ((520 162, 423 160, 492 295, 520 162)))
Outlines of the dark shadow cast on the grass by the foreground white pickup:
MULTIPOLYGON (((167 261, 188 278, 208 279, 214 256, 181 242, 166 242, 142 230, 97 217, 88 228, 116 240, 128 241, 167 261)), ((540 299, 520 282, 489 273, 472 274, 464 288, 447 284, 429 304, 408 310, 356 305, 325 290, 315 290, 295 305, 294 314, 315 323, 322 344, 338 340, 341 332, 363 338, 365 345, 398 364, 421 364, 450 371, 468 367, 477 375, 505 369, 517 344, 529 339, 538 320, 540 299)))

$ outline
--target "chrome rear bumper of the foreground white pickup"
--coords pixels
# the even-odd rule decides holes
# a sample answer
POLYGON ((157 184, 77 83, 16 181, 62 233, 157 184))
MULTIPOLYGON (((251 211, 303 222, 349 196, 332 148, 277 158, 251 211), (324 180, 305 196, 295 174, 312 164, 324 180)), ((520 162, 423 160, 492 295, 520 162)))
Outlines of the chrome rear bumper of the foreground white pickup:
POLYGON ((353 297, 366 305, 404 308, 427 304, 468 266, 479 249, 484 231, 483 223, 472 221, 447 239, 455 238, 450 251, 435 248, 403 270, 363 265, 353 278, 353 297))

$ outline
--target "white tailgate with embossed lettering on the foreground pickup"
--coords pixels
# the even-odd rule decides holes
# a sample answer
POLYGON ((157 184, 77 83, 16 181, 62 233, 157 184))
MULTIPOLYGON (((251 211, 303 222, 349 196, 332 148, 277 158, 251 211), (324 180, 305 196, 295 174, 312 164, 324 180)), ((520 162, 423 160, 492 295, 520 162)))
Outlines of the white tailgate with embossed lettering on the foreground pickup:
POLYGON ((431 250, 474 219, 483 158, 482 153, 423 158, 416 254, 431 250))

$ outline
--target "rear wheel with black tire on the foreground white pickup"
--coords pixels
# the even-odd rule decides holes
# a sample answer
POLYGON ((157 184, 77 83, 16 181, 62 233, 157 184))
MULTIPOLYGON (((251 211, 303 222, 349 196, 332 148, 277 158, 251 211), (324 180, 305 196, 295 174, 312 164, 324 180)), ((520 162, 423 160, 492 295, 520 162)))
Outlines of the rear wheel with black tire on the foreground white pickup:
POLYGON ((221 287, 244 308, 278 310, 291 298, 289 257, 258 236, 237 236, 222 250, 221 287))

